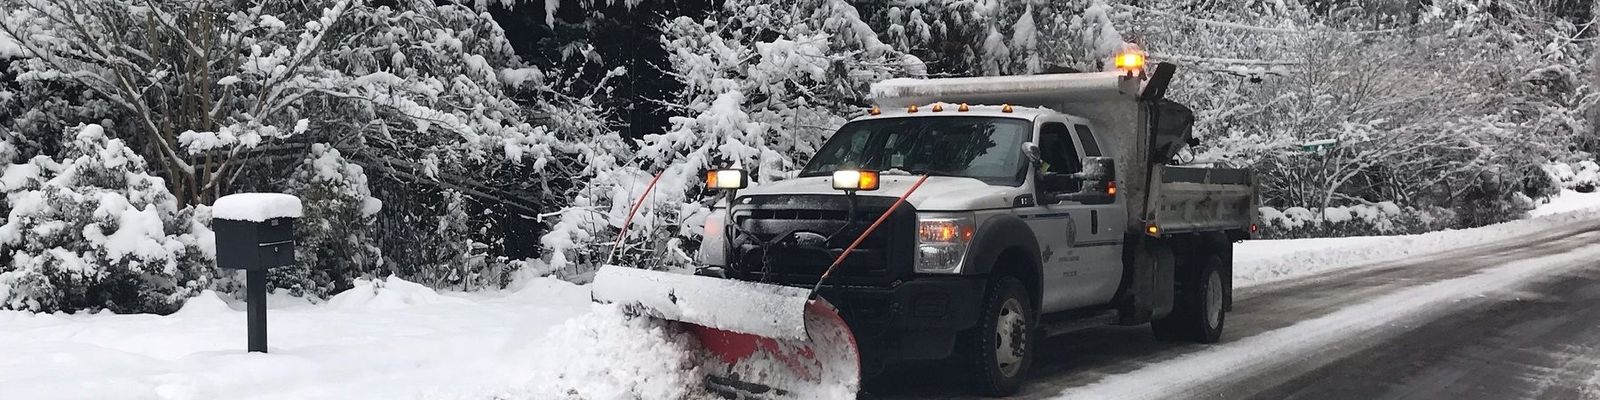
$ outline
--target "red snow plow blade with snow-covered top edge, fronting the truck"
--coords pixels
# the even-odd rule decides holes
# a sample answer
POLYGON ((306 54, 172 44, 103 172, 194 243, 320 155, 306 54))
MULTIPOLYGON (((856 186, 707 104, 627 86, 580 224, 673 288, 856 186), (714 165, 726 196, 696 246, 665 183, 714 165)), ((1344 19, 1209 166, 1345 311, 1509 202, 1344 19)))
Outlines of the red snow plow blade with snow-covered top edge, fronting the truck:
POLYGON ((605 266, 594 299, 686 325, 726 398, 854 398, 861 350, 832 304, 805 288, 605 266))

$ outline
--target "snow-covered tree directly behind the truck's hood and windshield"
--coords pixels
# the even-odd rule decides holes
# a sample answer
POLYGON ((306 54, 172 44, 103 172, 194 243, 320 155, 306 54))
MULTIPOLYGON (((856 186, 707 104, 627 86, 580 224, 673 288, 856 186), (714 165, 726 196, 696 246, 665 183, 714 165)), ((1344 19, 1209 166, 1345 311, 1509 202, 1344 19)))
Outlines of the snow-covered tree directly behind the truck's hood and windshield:
MULTIPOLYGON (((878 38, 859 11, 838 0, 728 2, 706 19, 662 27, 682 117, 637 150, 597 157, 542 237, 550 267, 598 262, 670 267, 691 262, 707 205, 699 176, 741 166, 754 184, 797 170, 846 117, 864 110, 872 82, 922 69, 878 38), (653 176, 661 179, 645 197, 653 176), (626 248, 613 248, 629 210, 645 198, 626 248), (613 259, 616 253, 616 259, 613 259)), ((914 58, 910 58, 914 59, 914 58)))

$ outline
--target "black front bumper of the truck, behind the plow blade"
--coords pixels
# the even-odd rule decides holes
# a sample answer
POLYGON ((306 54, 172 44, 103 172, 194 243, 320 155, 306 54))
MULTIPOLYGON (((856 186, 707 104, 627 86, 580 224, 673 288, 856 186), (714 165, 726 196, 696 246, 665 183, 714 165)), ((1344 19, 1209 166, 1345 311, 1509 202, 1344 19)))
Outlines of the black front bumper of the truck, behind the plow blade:
POLYGON ((978 325, 986 282, 918 277, 888 288, 834 285, 819 293, 845 317, 864 362, 939 360, 954 352, 957 333, 978 325))

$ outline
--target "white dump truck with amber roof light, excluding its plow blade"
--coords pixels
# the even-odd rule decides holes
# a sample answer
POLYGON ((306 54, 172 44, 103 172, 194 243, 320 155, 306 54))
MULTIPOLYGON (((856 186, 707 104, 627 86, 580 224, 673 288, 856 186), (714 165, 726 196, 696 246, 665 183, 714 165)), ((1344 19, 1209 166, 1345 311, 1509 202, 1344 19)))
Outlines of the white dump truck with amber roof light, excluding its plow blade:
MULTIPOLYGON (((1022 307, 1027 331, 1098 320, 1155 323, 1158 334, 1182 331, 1216 341, 1230 302, 1232 242, 1254 230, 1256 189, 1245 170, 1168 165, 1176 146, 1189 139, 1192 117, 1187 107, 1162 99, 1165 82, 1149 83, 1170 78, 1171 69, 1157 77, 1090 72, 877 83, 870 115, 846 123, 819 154, 835 149, 830 146, 845 131, 867 126, 949 134, 973 120, 1005 120, 1013 128, 1008 138, 1019 138, 1016 126, 1026 126, 1026 136, 1016 142, 984 139, 978 157, 1002 154, 1027 162, 1018 165, 1016 179, 885 166, 877 190, 842 192, 822 170, 848 163, 811 160, 800 178, 739 190, 726 203, 726 218, 714 213, 707 224, 723 229, 707 229, 718 235, 702 242, 702 261, 718 269, 712 274, 718 277, 808 285, 827 267, 819 264, 866 232, 859 234, 866 243, 861 254, 838 264, 838 277, 819 283, 818 293, 840 307, 869 362, 944 358, 955 352, 960 333, 1014 323, 1005 317, 997 322, 992 312, 997 293, 1016 291, 1018 283, 1029 304, 1022 307), (1150 94, 1149 85, 1162 86, 1150 94), (923 173, 930 176, 906 198, 909 206, 888 211, 923 173), (883 218, 883 229, 864 230, 885 213, 891 216, 883 218), (928 254, 949 248, 946 242, 939 243, 944 250, 925 243, 930 224, 939 229, 941 221, 966 221, 962 227, 968 230, 958 234, 965 242, 954 267, 944 258, 946 269, 925 269, 928 254)), ((960 138, 998 128, 987 130, 960 138)), ((838 144, 846 150, 872 146, 838 144)), ((890 150, 890 144, 877 146, 890 150)), ((920 139, 910 144, 918 146, 920 139)), ((890 158, 901 157, 901 147, 893 150, 890 158)), ((898 163, 880 155, 854 165, 898 163)), ((1005 365, 1005 357, 998 360, 1005 365)), ((995 386, 998 392, 1016 384, 1005 379, 995 386)))

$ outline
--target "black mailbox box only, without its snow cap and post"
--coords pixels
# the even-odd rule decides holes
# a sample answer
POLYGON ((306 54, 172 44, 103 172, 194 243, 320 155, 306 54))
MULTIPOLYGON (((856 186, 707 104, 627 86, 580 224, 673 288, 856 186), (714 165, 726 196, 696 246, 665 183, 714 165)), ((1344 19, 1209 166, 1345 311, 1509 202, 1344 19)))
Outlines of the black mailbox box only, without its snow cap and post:
POLYGON ((213 219, 216 266, 224 269, 272 269, 294 264, 294 219, 261 222, 213 219))

